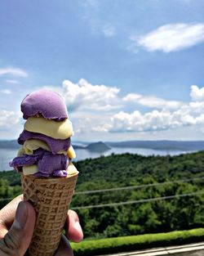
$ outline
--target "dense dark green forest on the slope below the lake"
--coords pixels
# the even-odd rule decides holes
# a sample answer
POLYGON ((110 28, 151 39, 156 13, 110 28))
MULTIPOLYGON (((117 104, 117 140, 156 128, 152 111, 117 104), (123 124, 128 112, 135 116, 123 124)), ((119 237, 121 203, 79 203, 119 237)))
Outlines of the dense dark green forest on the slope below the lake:
MULTIPOLYGON (((109 155, 74 164, 79 177, 71 209, 86 239, 204 227, 204 151, 109 155)), ((20 190, 19 173, 0 172, 0 208, 20 190)))

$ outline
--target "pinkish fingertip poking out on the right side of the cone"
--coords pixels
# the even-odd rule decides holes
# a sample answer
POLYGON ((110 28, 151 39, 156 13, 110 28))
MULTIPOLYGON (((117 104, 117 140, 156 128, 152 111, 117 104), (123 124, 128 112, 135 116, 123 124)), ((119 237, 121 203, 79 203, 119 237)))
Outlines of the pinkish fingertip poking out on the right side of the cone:
POLYGON ((81 242, 83 239, 83 231, 79 223, 78 214, 73 210, 68 211, 66 236, 76 243, 81 242))

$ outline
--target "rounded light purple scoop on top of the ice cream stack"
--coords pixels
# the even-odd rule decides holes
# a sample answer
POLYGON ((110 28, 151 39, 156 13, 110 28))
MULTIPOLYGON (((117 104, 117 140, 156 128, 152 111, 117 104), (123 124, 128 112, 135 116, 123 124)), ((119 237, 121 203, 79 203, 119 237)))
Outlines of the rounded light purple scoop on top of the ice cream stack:
POLYGON ((32 92, 21 103, 24 119, 33 115, 42 115, 45 119, 62 121, 68 118, 67 108, 60 94, 51 90, 42 89, 32 92))

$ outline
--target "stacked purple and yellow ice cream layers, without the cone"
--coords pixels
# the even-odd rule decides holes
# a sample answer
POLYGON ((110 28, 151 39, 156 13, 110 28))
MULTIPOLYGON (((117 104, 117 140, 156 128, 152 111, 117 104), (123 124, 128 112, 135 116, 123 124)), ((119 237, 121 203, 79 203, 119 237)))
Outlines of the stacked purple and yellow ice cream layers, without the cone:
POLYGON ((70 139, 73 127, 62 97, 47 89, 32 92, 24 97, 21 111, 27 119, 18 138, 22 147, 10 166, 24 175, 66 177, 75 152, 70 139))

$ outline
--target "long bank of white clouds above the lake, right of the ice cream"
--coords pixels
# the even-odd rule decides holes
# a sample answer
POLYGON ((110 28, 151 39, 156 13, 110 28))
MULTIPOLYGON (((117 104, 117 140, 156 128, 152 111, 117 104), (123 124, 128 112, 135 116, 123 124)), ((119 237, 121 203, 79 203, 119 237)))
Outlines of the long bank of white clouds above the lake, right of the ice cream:
POLYGON ((78 83, 64 80, 58 92, 66 101, 74 131, 78 135, 97 134, 97 132, 100 134, 107 134, 107 132, 146 134, 147 132, 171 131, 175 128, 203 126, 202 88, 195 85, 191 88, 192 99, 197 100, 198 97, 199 101, 188 103, 166 101, 160 97, 137 93, 129 93, 125 97, 120 97, 119 88, 93 85, 85 79, 79 80, 78 83), (131 107, 135 104, 135 108, 141 105, 149 107, 150 110, 142 113, 140 109, 135 109, 127 113, 129 103, 131 107))

